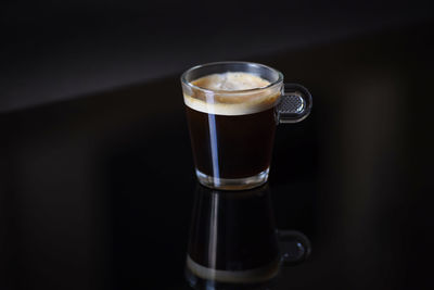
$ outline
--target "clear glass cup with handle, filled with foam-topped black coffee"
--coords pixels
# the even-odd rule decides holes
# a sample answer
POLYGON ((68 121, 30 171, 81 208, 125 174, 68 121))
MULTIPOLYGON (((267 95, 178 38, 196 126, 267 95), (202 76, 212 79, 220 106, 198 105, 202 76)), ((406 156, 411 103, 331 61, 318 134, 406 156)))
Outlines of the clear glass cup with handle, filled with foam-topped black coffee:
POLYGON ((243 190, 268 180, 276 126, 306 118, 312 100, 283 75, 251 62, 216 62, 194 66, 181 76, 190 138, 199 181, 220 190, 243 190), (208 89, 199 78, 228 72, 269 81, 254 89, 208 89))

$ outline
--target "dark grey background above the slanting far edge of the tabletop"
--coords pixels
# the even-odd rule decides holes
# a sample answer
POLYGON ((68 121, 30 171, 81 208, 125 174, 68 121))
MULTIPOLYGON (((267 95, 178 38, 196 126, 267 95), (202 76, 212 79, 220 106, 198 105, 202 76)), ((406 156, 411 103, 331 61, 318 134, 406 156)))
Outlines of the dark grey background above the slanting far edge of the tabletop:
POLYGON ((2 1, 0 111, 421 23, 430 1, 2 1))

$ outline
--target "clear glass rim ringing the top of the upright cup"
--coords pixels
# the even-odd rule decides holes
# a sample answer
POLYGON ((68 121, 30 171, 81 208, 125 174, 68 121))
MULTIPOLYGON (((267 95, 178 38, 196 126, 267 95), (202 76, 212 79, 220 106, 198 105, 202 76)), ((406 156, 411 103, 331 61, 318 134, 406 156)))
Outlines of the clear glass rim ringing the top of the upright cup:
POLYGON ((279 72, 278 70, 265 65, 265 64, 260 64, 260 63, 255 63, 255 62, 243 62, 243 61, 222 61, 222 62, 210 62, 210 63, 205 63, 205 64, 199 64, 195 65, 193 67, 190 67, 189 70, 187 70, 186 72, 182 73, 181 75, 181 83, 192 89, 195 90, 201 90, 204 92, 212 92, 212 93, 219 93, 219 94, 235 94, 235 93, 245 93, 245 92, 255 92, 255 91, 260 91, 260 90, 266 90, 266 89, 270 89, 277 85, 280 85, 283 83, 283 74, 281 72, 279 72), (256 67, 263 67, 263 68, 267 68, 270 70, 275 73, 278 74, 278 79, 270 83, 269 85, 261 87, 261 88, 253 88, 253 89, 244 89, 244 90, 214 90, 214 89, 206 89, 206 88, 202 88, 199 86, 193 85, 192 83, 190 83, 189 80, 187 80, 187 75, 190 74, 193 71, 206 67, 206 66, 213 66, 213 65, 224 65, 224 64, 245 64, 245 65, 251 65, 251 66, 256 66, 256 67))

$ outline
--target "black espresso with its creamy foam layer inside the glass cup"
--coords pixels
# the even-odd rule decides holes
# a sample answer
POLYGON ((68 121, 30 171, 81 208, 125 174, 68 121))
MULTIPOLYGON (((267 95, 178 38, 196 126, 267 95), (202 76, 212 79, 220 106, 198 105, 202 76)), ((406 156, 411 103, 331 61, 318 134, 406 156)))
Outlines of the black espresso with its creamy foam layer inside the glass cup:
POLYGON ((221 179, 268 174, 280 90, 241 72, 212 74, 191 84, 203 89, 184 94, 197 174, 221 179))

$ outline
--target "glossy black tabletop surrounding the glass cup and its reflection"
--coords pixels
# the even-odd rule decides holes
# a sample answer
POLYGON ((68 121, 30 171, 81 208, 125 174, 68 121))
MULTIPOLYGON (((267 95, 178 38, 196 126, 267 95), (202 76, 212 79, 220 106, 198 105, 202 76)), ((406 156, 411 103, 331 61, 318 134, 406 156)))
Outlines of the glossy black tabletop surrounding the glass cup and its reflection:
MULTIPOLYGON (((314 97, 307 119, 278 127, 269 180, 277 227, 311 254, 272 289, 432 285, 431 29, 248 60, 314 97)), ((178 77, 0 115, 1 289, 189 289, 178 77)))

